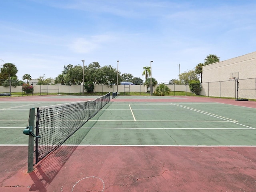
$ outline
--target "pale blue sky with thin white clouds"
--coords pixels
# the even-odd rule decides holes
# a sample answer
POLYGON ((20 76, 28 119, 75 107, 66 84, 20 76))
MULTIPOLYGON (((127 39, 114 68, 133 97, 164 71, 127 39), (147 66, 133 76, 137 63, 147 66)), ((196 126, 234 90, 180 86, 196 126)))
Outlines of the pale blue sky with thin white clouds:
POLYGON ((99 62, 158 83, 206 56, 256 51, 256 0, 1 0, 0 65, 18 79, 55 78, 68 64, 99 62), (119 60, 119 64, 117 64, 119 60))

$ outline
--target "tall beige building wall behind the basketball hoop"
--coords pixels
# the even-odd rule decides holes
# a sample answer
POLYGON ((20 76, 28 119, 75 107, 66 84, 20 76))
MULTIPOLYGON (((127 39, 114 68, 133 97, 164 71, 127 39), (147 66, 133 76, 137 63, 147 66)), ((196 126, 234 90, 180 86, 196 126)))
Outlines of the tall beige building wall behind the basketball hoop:
POLYGON ((256 99, 256 52, 203 66, 201 94, 235 97, 236 81, 229 78, 236 72, 239 74, 238 97, 256 99))

